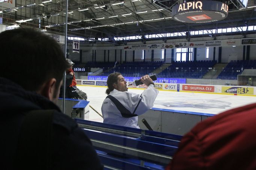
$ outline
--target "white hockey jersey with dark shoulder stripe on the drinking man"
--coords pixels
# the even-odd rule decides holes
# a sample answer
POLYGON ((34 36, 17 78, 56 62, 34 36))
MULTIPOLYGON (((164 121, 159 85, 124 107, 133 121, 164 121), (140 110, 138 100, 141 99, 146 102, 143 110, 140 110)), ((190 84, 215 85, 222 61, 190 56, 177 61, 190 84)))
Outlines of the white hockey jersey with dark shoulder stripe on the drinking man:
POLYGON ((153 107, 158 92, 152 84, 141 95, 114 89, 101 106, 103 123, 139 128, 138 115, 153 107))

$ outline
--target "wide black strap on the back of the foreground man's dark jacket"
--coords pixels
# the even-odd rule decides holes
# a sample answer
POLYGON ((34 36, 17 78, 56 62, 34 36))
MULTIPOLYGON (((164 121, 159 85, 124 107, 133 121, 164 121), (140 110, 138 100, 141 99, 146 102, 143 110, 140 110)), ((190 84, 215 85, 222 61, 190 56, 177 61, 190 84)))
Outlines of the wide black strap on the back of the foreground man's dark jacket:
MULTIPOLYGON (((15 166, 50 169, 51 131, 54 110, 26 113, 18 138, 15 166)), ((29 169, 29 168, 28 168, 29 169)))

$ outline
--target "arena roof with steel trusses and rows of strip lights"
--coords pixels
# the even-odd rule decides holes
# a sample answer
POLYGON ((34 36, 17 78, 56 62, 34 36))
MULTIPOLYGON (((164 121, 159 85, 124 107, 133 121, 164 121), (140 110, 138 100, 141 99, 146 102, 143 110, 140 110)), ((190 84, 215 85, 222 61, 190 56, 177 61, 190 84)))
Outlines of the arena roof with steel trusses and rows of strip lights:
MULTIPOLYGON (((226 19, 189 24, 172 18, 172 7, 184 3, 182 0, 68 0, 68 35, 108 38, 111 42, 118 36, 142 36, 145 41, 146 34, 256 25, 255 0, 248 0, 247 6, 240 0, 220 1, 228 4, 226 19)), ((36 28, 40 25, 40 29, 49 33, 64 34, 65 0, 16 0, 10 8, 2 7, 2 4, 0 2, 3 24, 36 28)), ((247 31, 238 34, 246 36, 247 31)), ((186 38, 189 39, 190 35, 187 34, 186 38)))

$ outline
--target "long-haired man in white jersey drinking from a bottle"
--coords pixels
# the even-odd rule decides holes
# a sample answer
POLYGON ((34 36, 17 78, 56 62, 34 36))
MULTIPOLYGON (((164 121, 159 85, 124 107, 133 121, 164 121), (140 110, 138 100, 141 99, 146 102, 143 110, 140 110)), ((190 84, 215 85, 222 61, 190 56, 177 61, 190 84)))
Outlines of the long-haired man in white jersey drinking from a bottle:
POLYGON ((138 115, 142 115, 153 107, 158 90, 149 75, 140 78, 147 85, 141 95, 128 92, 127 82, 121 73, 115 72, 108 76, 108 96, 102 103, 103 122, 126 127, 139 128, 138 115))

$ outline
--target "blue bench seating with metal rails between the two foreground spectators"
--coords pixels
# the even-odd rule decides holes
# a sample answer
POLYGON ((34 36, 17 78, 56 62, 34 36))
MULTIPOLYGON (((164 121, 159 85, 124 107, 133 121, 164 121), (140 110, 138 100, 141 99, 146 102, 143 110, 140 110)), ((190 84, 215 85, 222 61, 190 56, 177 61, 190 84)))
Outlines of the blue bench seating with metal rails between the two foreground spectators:
POLYGON ((74 120, 92 140, 104 169, 163 170, 182 138, 175 134, 74 120))

